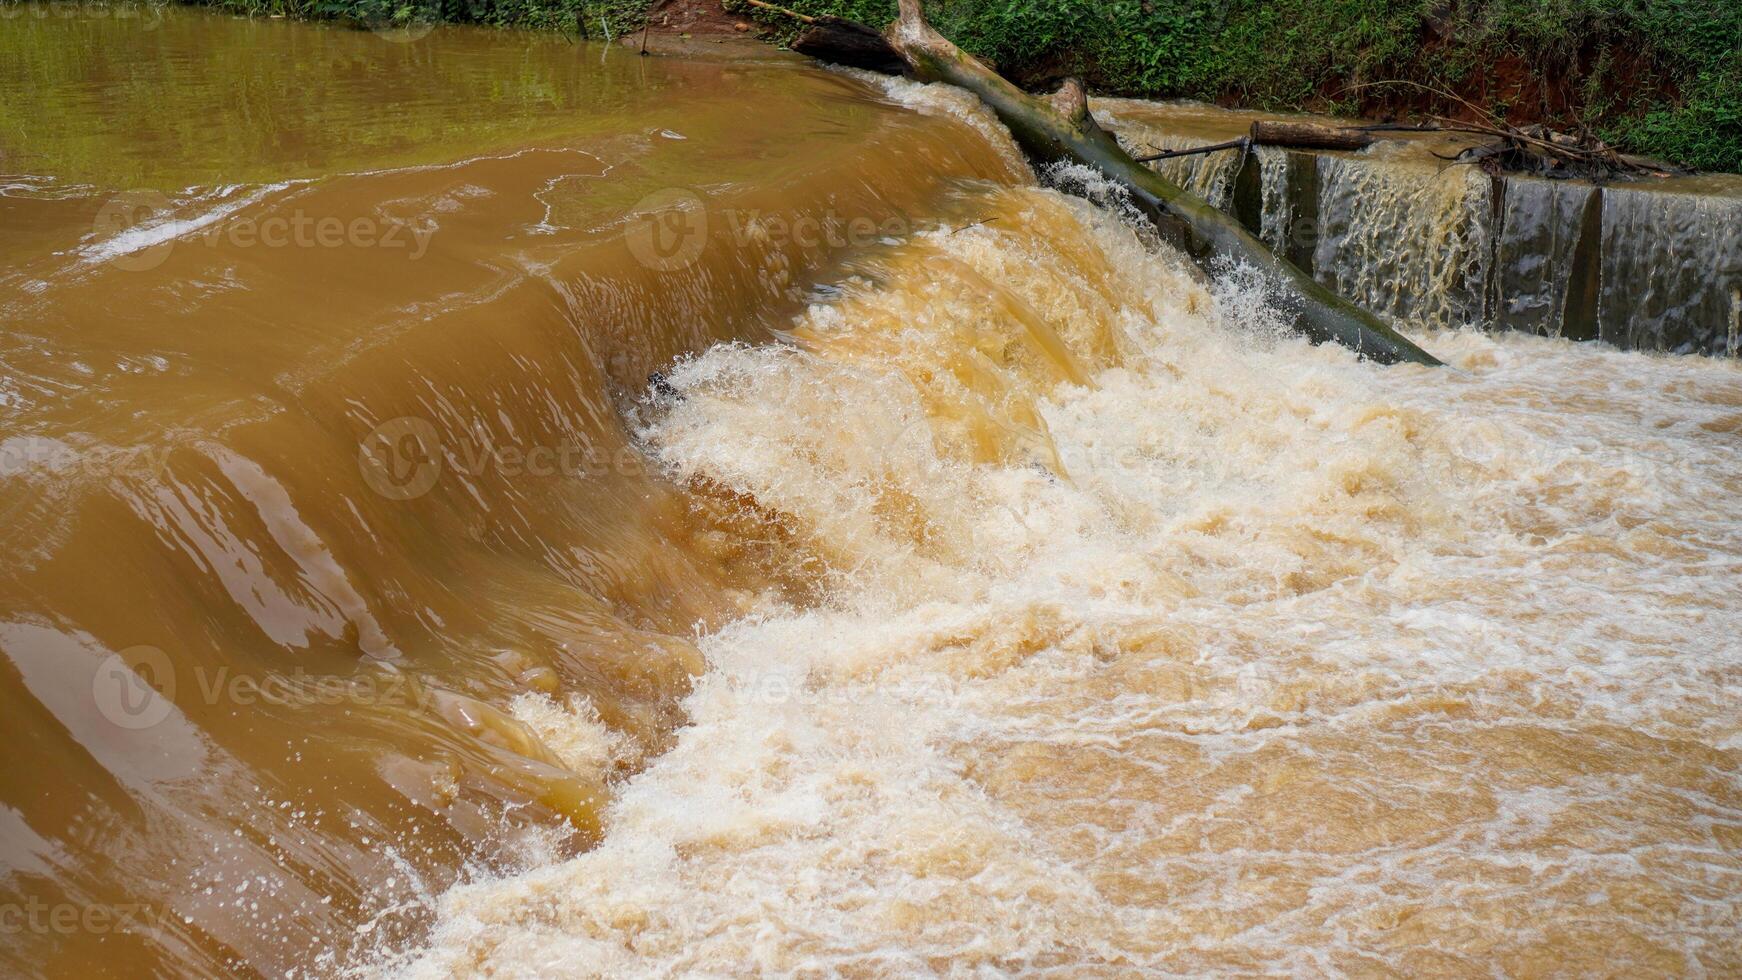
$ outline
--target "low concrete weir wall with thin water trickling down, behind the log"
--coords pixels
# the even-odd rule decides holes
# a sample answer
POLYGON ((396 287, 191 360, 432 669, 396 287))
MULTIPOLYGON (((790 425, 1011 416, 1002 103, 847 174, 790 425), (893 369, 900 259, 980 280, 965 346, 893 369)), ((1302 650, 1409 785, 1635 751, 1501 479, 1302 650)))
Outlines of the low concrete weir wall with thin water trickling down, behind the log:
MULTIPOLYGON (((1251 113, 1108 99, 1134 150, 1239 136, 1251 113)), ((1742 350, 1742 178, 1603 186, 1489 176, 1444 136, 1359 153, 1258 148, 1164 174, 1350 299, 1406 326, 1479 324, 1624 348, 1742 350)))

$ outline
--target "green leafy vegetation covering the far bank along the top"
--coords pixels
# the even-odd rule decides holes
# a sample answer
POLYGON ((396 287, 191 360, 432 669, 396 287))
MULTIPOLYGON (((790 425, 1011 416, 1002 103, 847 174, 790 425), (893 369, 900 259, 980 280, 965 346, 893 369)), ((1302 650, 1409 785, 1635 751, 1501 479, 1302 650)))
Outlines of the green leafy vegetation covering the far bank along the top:
MULTIPOLYGON (((648 0, 209 0, 261 14, 362 23, 441 19, 603 33, 639 28, 648 0)), ((789 31, 793 23, 726 0, 789 31)), ((894 0, 787 0, 881 24, 894 0)), ((1585 125, 1624 150, 1742 172, 1742 0, 932 0, 932 21, 1031 84, 1268 110, 1355 111, 1348 85, 1404 78, 1455 92, 1550 85, 1519 117, 1585 125), (1543 110, 1549 110, 1547 113, 1543 110)), ((1498 92, 1496 92, 1498 89, 1498 92)), ((1373 92, 1364 91, 1371 108, 1373 92)), ((1416 108, 1449 110, 1449 104, 1416 108)))

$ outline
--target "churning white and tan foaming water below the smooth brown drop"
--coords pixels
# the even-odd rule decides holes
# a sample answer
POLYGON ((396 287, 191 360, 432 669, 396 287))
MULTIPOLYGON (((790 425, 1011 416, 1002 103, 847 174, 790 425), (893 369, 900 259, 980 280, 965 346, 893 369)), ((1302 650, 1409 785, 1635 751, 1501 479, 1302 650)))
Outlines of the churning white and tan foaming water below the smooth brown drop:
POLYGON ((1090 204, 970 197, 672 371, 645 446, 824 599, 702 637, 603 842, 381 968, 1742 971, 1737 364, 1378 367, 1090 204))

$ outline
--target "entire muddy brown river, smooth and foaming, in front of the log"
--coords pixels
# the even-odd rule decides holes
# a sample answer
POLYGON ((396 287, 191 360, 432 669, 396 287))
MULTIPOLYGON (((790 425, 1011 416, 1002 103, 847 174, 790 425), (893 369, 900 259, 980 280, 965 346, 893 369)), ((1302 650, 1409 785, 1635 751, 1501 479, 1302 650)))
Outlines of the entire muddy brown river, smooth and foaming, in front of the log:
POLYGON ((0 970, 1742 971, 1733 359, 1312 348, 772 54, 30 10, 0 970))

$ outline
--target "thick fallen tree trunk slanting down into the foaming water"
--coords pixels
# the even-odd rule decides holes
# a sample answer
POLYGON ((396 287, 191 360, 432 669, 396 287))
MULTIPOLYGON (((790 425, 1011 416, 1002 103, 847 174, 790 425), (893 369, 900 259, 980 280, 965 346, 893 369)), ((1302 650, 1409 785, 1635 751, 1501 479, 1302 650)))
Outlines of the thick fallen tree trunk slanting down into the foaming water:
MULTIPOLYGON (((841 61, 834 56, 833 37, 833 31, 819 31, 814 24, 793 47, 812 57, 841 61)), ((948 82, 979 96, 1035 162, 1082 164, 1115 181, 1200 266, 1239 263, 1258 268, 1270 284, 1272 301, 1294 313, 1294 329, 1301 334, 1313 341, 1336 341, 1383 364, 1439 364, 1383 320, 1272 252, 1233 218, 1132 160, 1089 115, 1087 92, 1080 82, 1068 80, 1049 99, 1023 92, 932 30, 920 0, 901 0, 901 19, 881 37, 885 45, 874 45, 874 50, 885 61, 892 56, 904 66, 902 75, 922 82, 948 82)), ((855 31, 854 44, 862 38, 855 31)), ((862 52, 854 54, 861 56, 862 52)))

